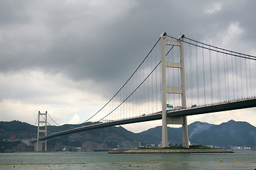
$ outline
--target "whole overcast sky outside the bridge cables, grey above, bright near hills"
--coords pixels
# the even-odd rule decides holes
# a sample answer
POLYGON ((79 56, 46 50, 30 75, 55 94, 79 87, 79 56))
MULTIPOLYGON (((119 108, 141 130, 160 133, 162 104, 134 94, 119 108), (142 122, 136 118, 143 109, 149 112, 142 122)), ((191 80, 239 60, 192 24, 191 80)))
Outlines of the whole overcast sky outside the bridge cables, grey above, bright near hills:
MULTIPOLYGON (((84 122, 130 77, 162 32, 256 55, 255 6, 256 1, 0 0, 0 120, 34 125, 38 111, 48 111, 59 124, 84 122)), ((230 119, 256 126, 255 109, 188 121, 230 119)), ((161 122, 125 128, 140 132, 156 125, 161 122)))

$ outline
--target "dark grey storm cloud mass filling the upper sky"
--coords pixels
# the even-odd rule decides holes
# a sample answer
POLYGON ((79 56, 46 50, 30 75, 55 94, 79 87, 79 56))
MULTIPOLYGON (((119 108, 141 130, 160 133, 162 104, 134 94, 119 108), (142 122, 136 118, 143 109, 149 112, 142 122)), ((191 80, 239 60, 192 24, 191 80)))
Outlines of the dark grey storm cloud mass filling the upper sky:
POLYGON ((41 69, 121 85, 163 31, 201 40, 240 22, 243 40, 255 43, 253 1, 94 3, 2 1, 1 72, 41 69))

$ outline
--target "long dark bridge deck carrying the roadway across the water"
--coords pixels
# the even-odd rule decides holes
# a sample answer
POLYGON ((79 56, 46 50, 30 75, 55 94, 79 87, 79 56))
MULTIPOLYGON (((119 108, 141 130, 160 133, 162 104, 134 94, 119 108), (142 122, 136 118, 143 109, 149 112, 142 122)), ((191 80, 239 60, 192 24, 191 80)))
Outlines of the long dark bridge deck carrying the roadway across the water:
MULTIPOLYGON (((226 101, 226 102, 215 103, 215 104, 206 105, 206 106, 199 106, 195 108, 182 108, 179 110, 167 111, 167 116, 179 117, 179 116, 186 116, 186 115, 199 115, 199 114, 205 114, 205 113, 216 113, 221 111, 232 111, 232 110, 237 110, 242 108, 254 108, 254 107, 256 107, 256 97, 240 99, 238 101, 226 101)), ((70 130, 64 130, 62 132, 56 132, 56 133, 47 135, 45 137, 40 137, 39 140, 48 140, 52 137, 67 135, 74 132, 82 132, 84 130, 92 130, 92 129, 105 128, 105 127, 110 127, 115 125, 140 123, 140 122, 145 122, 150 120, 160 120, 160 119, 162 119, 162 111, 157 113, 152 113, 150 115, 141 115, 134 118, 113 120, 113 121, 108 121, 107 123, 96 123, 94 125, 87 125, 79 128, 70 129, 70 130)), ((35 142, 35 141, 36 140, 33 140, 31 142, 35 142)))

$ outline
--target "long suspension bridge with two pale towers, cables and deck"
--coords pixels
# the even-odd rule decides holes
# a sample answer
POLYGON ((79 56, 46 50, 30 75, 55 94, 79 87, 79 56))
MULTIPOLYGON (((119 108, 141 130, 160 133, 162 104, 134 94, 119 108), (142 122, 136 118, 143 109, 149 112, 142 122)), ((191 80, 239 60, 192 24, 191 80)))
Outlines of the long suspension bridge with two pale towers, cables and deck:
POLYGON ((123 86, 83 126, 47 134, 48 113, 38 112, 35 151, 44 147, 46 152, 52 137, 150 120, 162 120, 162 147, 168 146, 168 124, 182 125, 182 145, 189 147, 187 116, 256 107, 255 72, 255 56, 162 33, 123 86))

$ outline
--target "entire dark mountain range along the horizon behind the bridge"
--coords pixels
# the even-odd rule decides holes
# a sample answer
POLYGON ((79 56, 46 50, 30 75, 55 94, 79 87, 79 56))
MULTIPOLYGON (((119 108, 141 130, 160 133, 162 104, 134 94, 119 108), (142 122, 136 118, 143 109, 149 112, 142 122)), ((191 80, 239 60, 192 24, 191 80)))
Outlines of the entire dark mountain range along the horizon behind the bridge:
MULTIPOLYGON (((48 133, 79 126, 81 125, 48 126, 48 133)), ((0 145, 6 145, 3 140, 6 142, 6 140, 13 139, 14 136, 16 140, 36 138, 37 127, 18 120, 0 122, 0 145)), ((52 138, 48 140, 48 150, 57 151, 62 150, 63 147, 82 147, 82 149, 131 148, 138 145, 139 142, 141 144, 160 143, 161 137, 161 126, 140 133, 130 132, 121 126, 108 127, 52 138)), ((168 128, 168 138, 172 144, 181 144, 182 128, 168 128)), ((213 145, 213 147, 226 147, 228 149, 230 146, 252 148, 256 145, 256 128, 247 122, 234 120, 221 123, 221 125, 195 122, 189 125, 189 141, 191 144, 213 145)), ((22 146, 18 148, 22 148, 22 146)))

